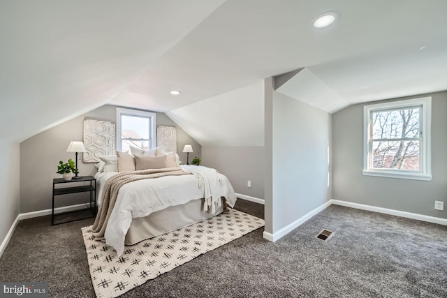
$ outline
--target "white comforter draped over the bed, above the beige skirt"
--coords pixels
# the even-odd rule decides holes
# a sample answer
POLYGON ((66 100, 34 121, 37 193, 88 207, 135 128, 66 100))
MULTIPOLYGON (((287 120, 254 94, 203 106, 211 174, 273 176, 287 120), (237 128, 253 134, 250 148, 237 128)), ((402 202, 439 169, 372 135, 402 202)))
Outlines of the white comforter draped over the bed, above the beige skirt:
MULTIPOLYGON (((148 216, 152 212, 201 198, 209 198, 205 206, 210 207, 213 213, 214 205, 220 202, 216 198, 224 197, 228 205, 234 207, 236 195, 227 177, 219 173, 213 176, 213 171, 210 171, 212 169, 207 167, 181 167, 192 174, 133 181, 119 189, 117 202, 104 234, 106 243, 115 248, 117 255, 124 252, 124 238, 132 218, 148 216)), ((101 205, 105 181, 114 174, 117 172, 98 172, 95 175, 99 186, 98 205, 101 205)))

